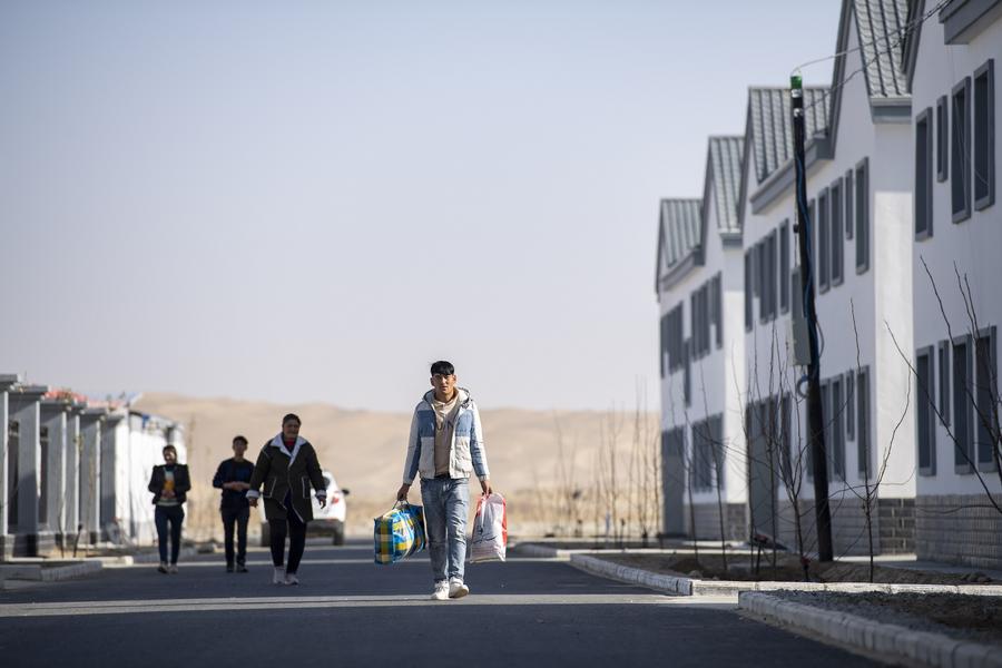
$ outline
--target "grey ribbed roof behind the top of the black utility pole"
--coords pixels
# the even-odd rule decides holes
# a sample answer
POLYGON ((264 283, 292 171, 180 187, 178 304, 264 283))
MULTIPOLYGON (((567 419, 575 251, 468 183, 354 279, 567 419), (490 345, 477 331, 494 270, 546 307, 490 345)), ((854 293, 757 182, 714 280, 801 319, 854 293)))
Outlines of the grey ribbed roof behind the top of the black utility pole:
MULTIPOLYGON (((809 139, 828 128, 828 88, 804 89, 804 117, 809 139)), ((793 157, 793 120, 788 88, 748 89, 748 120, 755 147, 755 174, 764 181, 793 157)))

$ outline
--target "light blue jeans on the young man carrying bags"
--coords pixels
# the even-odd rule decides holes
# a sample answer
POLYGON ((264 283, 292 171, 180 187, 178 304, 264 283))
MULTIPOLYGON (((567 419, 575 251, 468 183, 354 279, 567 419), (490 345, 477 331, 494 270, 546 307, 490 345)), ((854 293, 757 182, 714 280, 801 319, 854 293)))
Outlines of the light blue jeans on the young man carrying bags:
POLYGON ((428 525, 428 551, 435 582, 463 579, 466 561, 466 508, 470 485, 465 478, 424 478, 421 502, 428 525))

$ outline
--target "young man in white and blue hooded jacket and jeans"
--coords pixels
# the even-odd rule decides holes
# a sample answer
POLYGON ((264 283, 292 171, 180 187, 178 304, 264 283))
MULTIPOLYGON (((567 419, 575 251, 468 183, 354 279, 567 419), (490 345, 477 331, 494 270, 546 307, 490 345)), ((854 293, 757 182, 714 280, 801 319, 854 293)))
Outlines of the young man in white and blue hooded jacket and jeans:
POLYGON ((484 494, 491 493, 491 481, 480 413, 470 392, 456 386, 455 367, 450 362, 432 364, 431 376, 432 390, 414 409, 411 420, 403 484, 396 498, 405 501, 414 478, 421 475, 435 578, 432 599, 444 601, 470 593, 463 582, 470 472, 475 472, 484 494))

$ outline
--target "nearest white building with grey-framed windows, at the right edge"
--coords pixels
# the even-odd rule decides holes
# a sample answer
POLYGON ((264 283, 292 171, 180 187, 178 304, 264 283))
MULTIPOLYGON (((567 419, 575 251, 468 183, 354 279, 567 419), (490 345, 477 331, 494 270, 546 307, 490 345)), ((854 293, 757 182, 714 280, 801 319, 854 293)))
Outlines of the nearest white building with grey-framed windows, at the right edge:
MULTIPOLYGON (((934 9, 930 2, 911 4, 918 17, 934 9)), ((1002 145, 995 128, 1002 98, 994 73, 1000 63, 998 0, 955 0, 907 41, 916 550, 921 559, 991 568, 1002 568, 1002 513, 988 497, 991 492, 1002 505, 995 454, 1002 324, 1002 205, 996 202, 1002 145)))

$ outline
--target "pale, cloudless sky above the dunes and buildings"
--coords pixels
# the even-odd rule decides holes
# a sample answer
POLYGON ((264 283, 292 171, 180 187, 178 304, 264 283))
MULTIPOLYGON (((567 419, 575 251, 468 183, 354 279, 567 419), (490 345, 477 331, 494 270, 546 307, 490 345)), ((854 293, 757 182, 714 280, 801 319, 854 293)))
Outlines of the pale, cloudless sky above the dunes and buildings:
POLYGON ((448 358, 481 407, 652 407, 658 202, 838 11, 7 0, 0 373, 409 411, 448 358))

